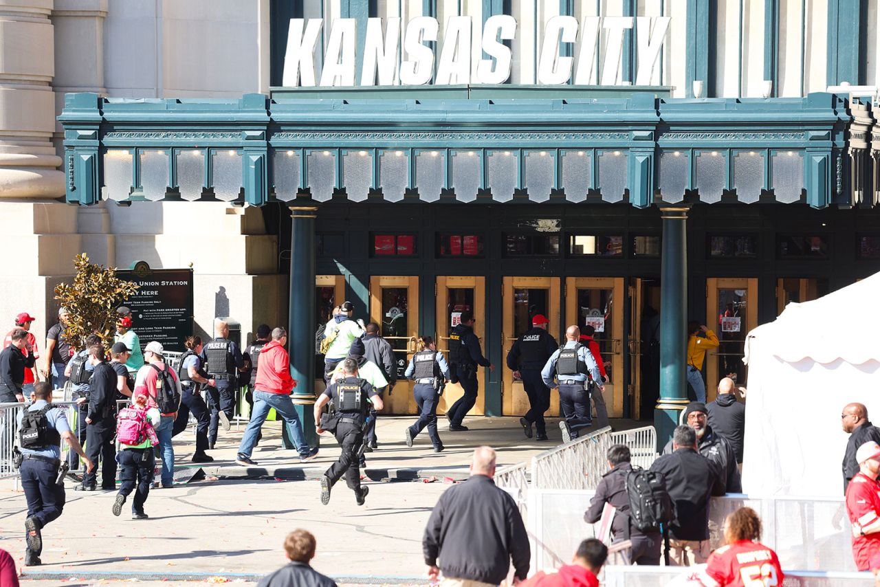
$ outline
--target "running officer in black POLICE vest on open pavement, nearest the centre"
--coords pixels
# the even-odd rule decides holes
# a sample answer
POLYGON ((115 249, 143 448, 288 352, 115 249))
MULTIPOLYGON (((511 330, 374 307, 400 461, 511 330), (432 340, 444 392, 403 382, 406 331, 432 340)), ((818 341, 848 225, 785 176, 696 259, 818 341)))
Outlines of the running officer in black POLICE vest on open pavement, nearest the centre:
POLYGON ((321 476, 321 503, 330 503, 330 489, 345 475, 348 488, 355 492, 358 505, 363 505, 370 488, 361 487, 361 471, 358 467, 358 452, 363 450, 363 428, 366 415, 372 407, 384 407, 382 396, 372 385, 357 376, 357 363, 354 359, 342 361, 342 374, 345 378, 331 384, 315 402, 315 430, 333 432, 341 447, 339 460, 321 476), (333 401, 335 413, 321 417, 321 409, 333 401))

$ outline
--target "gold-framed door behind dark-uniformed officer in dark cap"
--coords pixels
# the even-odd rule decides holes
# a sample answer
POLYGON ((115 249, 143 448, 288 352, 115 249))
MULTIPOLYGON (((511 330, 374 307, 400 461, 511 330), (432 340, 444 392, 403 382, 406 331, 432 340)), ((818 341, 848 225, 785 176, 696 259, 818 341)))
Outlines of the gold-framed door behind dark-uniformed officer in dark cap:
MULTIPOLYGON (((461 312, 473 313, 476 321, 473 324, 473 334, 480 339, 480 345, 485 347, 486 326, 486 278, 482 276, 445 276, 437 277, 436 281, 436 341, 437 350, 441 351, 447 362, 449 361, 449 332, 458 324, 461 312)), ((483 349, 485 354, 486 349, 483 349)), ((477 403, 469 412, 471 415, 485 415, 486 385, 480 385, 477 393, 477 403)), ((461 385, 446 383, 444 394, 440 396, 437 404, 437 412, 445 414, 446 409, 464 395, 461 385)))

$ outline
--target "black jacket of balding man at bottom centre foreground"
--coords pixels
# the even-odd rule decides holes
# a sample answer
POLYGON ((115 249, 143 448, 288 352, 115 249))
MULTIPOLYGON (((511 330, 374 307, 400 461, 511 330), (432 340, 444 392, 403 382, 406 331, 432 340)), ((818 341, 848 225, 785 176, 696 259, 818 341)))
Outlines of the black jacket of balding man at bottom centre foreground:
POLYGON ((516 576, 524 579, 532 554, 517 503, 486 475, 473 475, 440 496, 422 551, 425 563, 444 576, 495 585, 507 577, 511 558, 516 576))

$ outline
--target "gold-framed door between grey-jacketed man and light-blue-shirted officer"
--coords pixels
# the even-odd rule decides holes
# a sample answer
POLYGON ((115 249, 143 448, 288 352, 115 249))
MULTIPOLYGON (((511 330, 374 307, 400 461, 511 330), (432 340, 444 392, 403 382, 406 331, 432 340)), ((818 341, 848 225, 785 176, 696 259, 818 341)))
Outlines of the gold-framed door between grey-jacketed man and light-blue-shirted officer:
POLYGON ((398 275, 370 277, 370 320, 379 325, 379 334, 391 343, 397 369, 397 384, 385 393, 382 413, 415 414, 413 385, 403 374, 415 351, 415 338, 419 335, 419 278, 398 275))

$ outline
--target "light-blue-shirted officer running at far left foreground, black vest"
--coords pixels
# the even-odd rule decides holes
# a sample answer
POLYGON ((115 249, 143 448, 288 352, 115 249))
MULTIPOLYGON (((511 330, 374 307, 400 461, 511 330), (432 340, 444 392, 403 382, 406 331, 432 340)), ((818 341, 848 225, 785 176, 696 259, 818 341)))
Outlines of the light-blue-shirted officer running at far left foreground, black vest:
POLYGON ((70 444, 70 451, 76 452, 92 472, 94 463, 85 456, 77 437, 70 431, 70 423, 64 410, 52 407, 52 385, 41 381, 33 385, 31 405, 27 411, 18 413, 18 441, 21 445, 21 488, 25 490, 27 517, 25 519, 25 564, 28 567, 40 564, 43 549, 41 531, 46 525, 61 516, 64 509, 64 484, 58 483, 58 467, 61 466, 61 439, 70 444), (25 420, 27 414, 27 420, 25 420))

